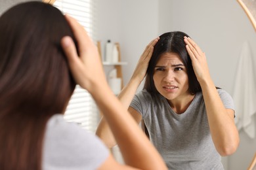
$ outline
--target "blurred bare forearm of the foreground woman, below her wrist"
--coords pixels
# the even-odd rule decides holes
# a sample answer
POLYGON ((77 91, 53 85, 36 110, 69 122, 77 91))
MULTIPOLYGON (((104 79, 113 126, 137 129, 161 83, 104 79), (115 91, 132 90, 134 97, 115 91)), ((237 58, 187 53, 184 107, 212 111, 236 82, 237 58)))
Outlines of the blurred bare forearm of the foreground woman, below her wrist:
POLYGON ((156 148, 114 94, 110 90, 102 90, 95 94, 92 92, 92 95, 114 134, 125 162, 141 169, 166 169, 156 148))

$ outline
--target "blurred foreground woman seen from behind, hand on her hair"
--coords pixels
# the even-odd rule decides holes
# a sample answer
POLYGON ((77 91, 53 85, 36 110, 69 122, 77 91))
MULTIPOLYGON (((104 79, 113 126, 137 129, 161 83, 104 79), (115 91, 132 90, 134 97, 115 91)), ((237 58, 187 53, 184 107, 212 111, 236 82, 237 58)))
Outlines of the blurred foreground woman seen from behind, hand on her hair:
POLYGON ((166 169, 111 92, 95 44, 73 18, 45 3, 21 3, 1 16, 0 37, 0 169, 166 169), (95 135, 64 121, 76 83, 94 97, 126 165, 95 135))

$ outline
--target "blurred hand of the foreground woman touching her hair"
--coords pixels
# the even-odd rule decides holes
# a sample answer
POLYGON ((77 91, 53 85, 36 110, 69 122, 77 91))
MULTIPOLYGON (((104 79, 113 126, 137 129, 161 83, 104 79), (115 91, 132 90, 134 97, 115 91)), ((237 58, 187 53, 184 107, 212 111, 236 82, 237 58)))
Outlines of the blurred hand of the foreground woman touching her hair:
POLYGON ((108 86, 95 44, 82 25, 71 16, 66 15, 65 17, 78 44, 76 49, 74 41, 68 36, 61 40, 75 82, 90 93, 96 89, 96 86, 108 86))

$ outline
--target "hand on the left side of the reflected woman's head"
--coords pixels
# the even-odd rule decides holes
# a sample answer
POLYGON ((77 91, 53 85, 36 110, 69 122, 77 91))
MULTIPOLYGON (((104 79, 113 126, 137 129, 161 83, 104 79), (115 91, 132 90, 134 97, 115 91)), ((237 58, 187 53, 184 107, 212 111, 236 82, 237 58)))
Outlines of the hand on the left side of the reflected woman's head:
POLYGON ((144 77, 146 76, 146 71, 148 69, 148 63, 152 57, 154 46, 158 42, 160 38, 156 38, 152 40, 145 48, 144 52, 140 56, 140 59, 137 63, 137 66, 135 68, 135 71, 133 72, 133 79, 139 80, 139 82, 142 82, 144 77))

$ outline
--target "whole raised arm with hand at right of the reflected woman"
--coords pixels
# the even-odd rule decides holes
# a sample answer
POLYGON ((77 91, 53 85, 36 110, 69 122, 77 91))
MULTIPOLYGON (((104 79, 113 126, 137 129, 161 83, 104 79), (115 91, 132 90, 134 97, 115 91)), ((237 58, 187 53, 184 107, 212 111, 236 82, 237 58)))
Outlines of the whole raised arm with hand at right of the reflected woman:
POLYGON ((234 123, 234 110, 226 109, 211 80, 205 53, 190 38, 184 37, 186 50, 192 60, 196 78, 200 83, 207 113, 211 138, 221 156, 233 154, 238 148, 239 133, 234 123))

